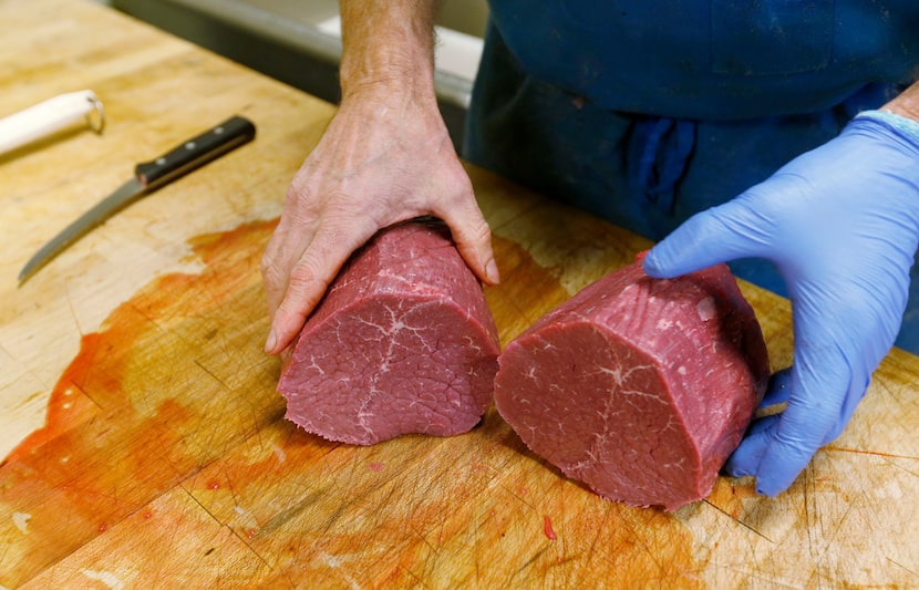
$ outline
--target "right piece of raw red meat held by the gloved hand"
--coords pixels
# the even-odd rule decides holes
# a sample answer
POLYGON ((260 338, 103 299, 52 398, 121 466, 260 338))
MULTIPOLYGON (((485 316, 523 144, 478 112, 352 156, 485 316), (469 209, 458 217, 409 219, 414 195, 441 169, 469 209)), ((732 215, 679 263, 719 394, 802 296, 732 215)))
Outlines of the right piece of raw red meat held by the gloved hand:
POLYGON ((659 280, 642 258, 510 342, 495 403, 570 478, 674 510, 711 491, 762 400, 768 358, 726 266, 659 280))

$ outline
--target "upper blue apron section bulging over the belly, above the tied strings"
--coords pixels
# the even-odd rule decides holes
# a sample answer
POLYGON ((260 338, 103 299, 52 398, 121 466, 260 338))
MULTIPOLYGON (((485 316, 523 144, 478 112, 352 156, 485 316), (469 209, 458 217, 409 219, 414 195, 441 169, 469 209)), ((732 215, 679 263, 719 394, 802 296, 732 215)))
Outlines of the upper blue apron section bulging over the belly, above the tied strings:
POLYGON ((919 76, 919 0, 492 0, 531 74, 617 111, 806 113, 919 76))

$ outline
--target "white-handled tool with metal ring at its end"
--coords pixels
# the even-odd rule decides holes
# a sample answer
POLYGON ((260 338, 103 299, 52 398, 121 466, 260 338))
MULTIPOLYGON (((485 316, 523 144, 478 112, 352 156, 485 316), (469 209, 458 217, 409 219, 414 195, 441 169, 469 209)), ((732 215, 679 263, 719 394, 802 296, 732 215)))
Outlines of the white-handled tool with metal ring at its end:
POLYGON ((69 92, 0 118, 0 154, 84 122, 96 133, 105 125, 102 102, 91 90, 69 92))

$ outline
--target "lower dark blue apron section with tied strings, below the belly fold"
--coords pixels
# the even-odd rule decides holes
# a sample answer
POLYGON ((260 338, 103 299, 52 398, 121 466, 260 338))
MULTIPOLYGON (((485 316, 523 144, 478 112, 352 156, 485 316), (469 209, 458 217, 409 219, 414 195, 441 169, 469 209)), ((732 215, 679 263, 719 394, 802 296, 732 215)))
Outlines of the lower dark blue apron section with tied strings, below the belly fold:
MULTIPOLYGON (((464 156, 660 240, 694 213, 730 200, 836 137, 859 111, 880 106, 900 90, 868 83, 829 108, 746 120, 626 113, 529 74, 492 23, 464 156)), ((770 262, 747 259, 731 267, 739 277, 787 297, 770 262)), ((897 345, 919 353, 917 266, 897 345)))

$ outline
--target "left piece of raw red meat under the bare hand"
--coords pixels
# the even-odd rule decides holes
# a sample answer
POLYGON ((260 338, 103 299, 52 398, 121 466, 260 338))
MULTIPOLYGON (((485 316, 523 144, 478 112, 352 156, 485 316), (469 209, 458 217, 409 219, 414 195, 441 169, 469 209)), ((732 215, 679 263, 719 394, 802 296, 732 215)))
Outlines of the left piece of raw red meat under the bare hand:
POLYGON ((331 441, 451 436, 492 403, 499 342, 482 286, 440 221, 382 230, 307 320, 278 391, 331 441))

